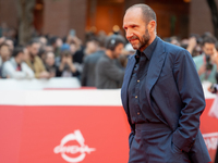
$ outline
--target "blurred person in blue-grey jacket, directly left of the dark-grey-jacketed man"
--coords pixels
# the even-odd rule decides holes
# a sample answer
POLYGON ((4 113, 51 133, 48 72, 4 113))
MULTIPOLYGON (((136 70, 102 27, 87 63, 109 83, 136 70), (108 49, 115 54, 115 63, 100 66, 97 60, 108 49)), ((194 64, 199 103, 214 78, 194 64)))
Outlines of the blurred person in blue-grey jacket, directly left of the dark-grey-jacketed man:
POLYGON ((98 50, 89 55, 86 55, 83 63, 83 72, 81 75, 81 85, 95 87, 96 86, 96 63, 105 54, 105 37, 99 37, 98 50))

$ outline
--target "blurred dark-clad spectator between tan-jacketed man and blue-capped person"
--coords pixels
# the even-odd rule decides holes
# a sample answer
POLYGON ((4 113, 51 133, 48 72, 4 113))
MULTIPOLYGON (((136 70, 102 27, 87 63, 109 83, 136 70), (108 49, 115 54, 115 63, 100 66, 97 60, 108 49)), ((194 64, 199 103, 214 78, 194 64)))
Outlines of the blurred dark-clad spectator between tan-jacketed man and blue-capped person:
POLYGON ((45 57, 45 66, 46 71, 50 73, 50 77, 57 76, 57 66, 55 62, 56 62, 55 53, 51 51, 47 52, 45 57))

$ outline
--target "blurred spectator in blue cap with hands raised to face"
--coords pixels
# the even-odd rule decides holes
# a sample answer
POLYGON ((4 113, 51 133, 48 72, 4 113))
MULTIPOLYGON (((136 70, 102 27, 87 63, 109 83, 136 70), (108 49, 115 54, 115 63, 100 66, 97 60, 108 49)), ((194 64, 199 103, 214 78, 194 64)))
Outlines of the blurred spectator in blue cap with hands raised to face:
POLYGON ((70 51, 70 46, 64 43, 61 47, 60 53, 60 64, 57 72, 58 77, 72 77, 78 76, 78 72, 72 62, 72 54, 70 51))

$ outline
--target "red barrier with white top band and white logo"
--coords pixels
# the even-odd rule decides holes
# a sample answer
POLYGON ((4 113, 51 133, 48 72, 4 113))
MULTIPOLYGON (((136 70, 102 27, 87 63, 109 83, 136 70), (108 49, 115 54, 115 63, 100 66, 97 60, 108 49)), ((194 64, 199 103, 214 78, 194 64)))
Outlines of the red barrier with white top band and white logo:
MULTIPOLYGON (((208 116, 206 91, 201 130, 211 159, 218 120, 208 116)), ((128 120, 120 90, 1 90, 0 162, 126 163, 128 120)))

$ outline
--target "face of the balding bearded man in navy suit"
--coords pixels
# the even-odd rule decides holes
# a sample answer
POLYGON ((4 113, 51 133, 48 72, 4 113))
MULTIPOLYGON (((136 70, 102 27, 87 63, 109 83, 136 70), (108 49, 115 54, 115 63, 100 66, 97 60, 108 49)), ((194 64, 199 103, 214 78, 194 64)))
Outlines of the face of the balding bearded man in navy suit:
POLYGON ((123 28, 125 37, 132 45, 133 49, 142 50, 148 46, 150 35, 146 27, 146 22, 143 20, 140 8, 128 11, 123 18, 123 28))

